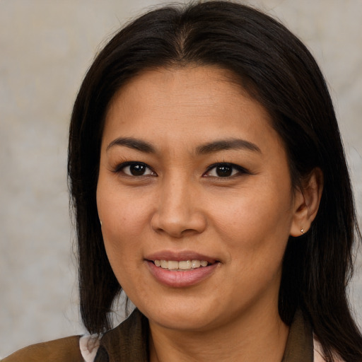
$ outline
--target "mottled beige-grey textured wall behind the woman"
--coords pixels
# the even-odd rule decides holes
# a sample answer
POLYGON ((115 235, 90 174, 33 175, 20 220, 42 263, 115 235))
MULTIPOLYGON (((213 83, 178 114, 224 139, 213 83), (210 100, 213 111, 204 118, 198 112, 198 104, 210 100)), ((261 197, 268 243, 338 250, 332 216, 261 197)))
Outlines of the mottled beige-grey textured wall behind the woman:
MULTIPOLYGON (((170 1, 168 1, 170 2, 170 1)), ((249 1, 307 43, 329 81, 362 203, 362 1, 249 1)), ((66 139, 93 55, 152 0, 0 1, 0 356, 81 332, 66 139)), ((362 322, 362 271, 351 300, 362 322)))

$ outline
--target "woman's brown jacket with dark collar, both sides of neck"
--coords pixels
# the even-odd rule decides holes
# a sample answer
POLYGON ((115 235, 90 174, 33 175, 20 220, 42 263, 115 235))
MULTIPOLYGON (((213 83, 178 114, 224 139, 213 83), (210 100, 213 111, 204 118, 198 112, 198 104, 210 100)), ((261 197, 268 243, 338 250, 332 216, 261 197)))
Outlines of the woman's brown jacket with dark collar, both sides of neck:
MULTIPOLYGON (((79 336, 35 344, 1 362, 81 362, 79 336)), ((147 362, 148 320, 139 310, 105 333, 94 362, 147 362)), ((301 313, 296 313, 281 362, 313 362, 313 332, 301 313)))

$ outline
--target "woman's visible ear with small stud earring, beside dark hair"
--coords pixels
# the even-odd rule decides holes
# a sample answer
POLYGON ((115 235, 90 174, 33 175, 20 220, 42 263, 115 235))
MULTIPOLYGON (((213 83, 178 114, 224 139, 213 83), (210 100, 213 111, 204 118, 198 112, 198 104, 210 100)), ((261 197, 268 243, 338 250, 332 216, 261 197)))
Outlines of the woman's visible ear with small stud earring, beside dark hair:
POLYGON ((303 180, 301 189, 294 195, 294 214, 291 223, 291 236, 300 236, 310 229, 312 221, 317 216, 323 190, 323 173, 315 168, 303 180))

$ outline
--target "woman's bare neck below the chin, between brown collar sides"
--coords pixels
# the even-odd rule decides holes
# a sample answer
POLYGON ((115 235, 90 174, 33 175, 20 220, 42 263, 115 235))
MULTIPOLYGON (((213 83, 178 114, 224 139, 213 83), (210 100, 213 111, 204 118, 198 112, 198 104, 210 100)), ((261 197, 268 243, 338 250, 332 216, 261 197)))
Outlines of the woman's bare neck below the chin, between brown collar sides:
POLYGON ((288 337, 277 310, 200 331, 167 329, 151 321, 150 329, 151 362, 280 362, 288 337))

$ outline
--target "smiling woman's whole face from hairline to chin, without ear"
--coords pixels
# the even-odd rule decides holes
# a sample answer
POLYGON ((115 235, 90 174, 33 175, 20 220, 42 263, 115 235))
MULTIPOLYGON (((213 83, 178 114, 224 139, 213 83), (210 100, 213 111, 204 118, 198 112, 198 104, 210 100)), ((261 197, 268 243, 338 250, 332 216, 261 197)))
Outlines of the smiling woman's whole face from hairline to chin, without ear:
POLYGON ((146 71, 107 111, 97 189, 105 249, 127 296, 163 327, 277 313, 296 198, 267 112, 230 76, 211 66, 146 71))

